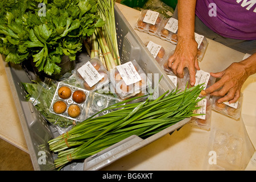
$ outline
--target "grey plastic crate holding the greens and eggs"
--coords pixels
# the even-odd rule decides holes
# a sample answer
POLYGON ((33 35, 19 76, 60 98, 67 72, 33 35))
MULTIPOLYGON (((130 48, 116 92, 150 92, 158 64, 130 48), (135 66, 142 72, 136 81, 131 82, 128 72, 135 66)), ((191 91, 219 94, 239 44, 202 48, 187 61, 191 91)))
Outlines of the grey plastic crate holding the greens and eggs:
MULTIPOLYGON (((146 46, 144 46, 142 40, 135 33, 117 6, 115 6, 115 22, 121 62, 126 63, 127 61, 135 59, 138 61, 139 66, 144 70, 144 72, 152 73, 152 80, 154 80, 154 75, 156 73, 163 76, 162 80, 160 80, 159 83, 157 82, 159 86, 159 95, 163 94, 167 90, 175 89, 174 84, 172 84, 171 80, 168 78, 166 73, 164 73, 163 69, 156 62, 146 46)), ((79 58, 82 59, 90 59, 86 53, 81 53, 79 56, 79 58)), ((4 56, 3 60, 5 60, 4 56)), ((60 135, 59 130, 48 123, 31 102, 26 101, 27 93, 22 85, 22 82, 31 82, 31 80, 34 80, 35 75, 34 73, 26 70, 26 68, 24 69, 22 65, 19 64, 10 64, 5 62, 5 68, 34 169, 36 171, 55 170, 54 159, 57 156, 49 151, 47 142, 49 139, 60 135), (44 157, 46 160, 42 160, 44 157)), ((154 85, 154 82, 152 84, 152 86, 156 86, 154 85)), ((146 146, 156 139, 174 132, 188 123, 189 120, 190 118, 184 119, 146 139, 141 139, 138 136, 131 136, 85 160, 79 162, 73 161, 61 170, 71 171, 100 169, 115 160, 146 146)))

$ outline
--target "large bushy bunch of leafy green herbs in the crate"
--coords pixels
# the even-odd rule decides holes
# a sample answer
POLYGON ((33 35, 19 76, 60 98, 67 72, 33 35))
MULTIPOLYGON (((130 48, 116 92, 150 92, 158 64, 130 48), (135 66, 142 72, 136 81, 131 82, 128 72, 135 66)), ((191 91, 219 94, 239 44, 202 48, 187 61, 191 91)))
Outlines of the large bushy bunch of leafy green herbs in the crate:
POLYGON ((105 21, 97 15, 96 0, 3 0, 0 2, 0 53, 19 64, 32 57, 38 71, 60 73, 64 55, 71 61, 82 40, 105 21), (39 3, 46 5, 39 16, 39 3))

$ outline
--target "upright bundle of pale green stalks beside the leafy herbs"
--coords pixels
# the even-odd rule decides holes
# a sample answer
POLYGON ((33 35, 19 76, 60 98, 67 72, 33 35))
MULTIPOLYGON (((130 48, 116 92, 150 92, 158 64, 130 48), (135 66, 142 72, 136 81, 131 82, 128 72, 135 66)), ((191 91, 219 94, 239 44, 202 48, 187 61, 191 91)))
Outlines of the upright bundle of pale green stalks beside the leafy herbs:
POLYGON ((110 71, 120 65, 120 57, 117 44, 117 32, 115 30, 114 5, 115 0, 97 0, 98 15, 106 22, 104 26, 96 28, 90 37, 90 56, 98 56, 110 71))

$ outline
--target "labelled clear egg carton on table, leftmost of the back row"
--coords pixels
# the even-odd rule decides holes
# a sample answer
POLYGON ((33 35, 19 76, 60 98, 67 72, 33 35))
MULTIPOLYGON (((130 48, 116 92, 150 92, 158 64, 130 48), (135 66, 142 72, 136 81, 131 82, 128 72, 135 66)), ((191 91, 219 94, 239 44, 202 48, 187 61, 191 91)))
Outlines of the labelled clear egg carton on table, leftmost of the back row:
POLYGON ((135 29, 158 36, 157 31, 163 19, 164 16, 156 11, 142 10, 135 24, 135 29))

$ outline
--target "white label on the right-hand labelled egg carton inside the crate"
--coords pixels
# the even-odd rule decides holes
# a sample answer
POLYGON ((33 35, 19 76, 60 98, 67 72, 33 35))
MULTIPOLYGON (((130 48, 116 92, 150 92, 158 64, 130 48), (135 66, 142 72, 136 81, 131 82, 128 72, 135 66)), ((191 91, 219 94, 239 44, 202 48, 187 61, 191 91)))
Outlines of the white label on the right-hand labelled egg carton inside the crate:
POLYGON ((131 61, 118 65, 117 70, 123 78, 123 81, 125 81, 126 85, 135 84, 135 82, 141 81, 141 76, 139 76, 139 73, 136 71, 131 61))

